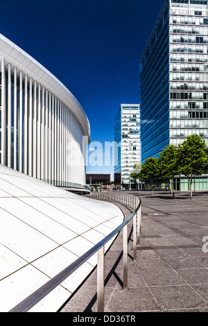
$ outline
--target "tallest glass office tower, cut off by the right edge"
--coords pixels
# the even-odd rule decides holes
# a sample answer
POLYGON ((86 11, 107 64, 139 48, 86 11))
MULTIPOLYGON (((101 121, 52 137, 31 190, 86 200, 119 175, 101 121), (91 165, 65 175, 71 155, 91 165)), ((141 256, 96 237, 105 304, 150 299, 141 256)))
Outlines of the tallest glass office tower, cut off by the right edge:
POLYGON ((207 0, 166 0, 141 57, 141 160, 197 134, 208 145, 207 0))

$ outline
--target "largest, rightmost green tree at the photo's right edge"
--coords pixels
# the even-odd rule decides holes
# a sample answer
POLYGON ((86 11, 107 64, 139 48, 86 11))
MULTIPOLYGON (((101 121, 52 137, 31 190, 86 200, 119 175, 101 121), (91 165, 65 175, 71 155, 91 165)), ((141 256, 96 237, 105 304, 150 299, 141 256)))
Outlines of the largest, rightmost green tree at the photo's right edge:
POLYGON ((191 196, 193 195, 193 176, 202 175, 207 166, 207 146, 198 135, 187 137, 178 148, 178 157, 182 173, 191 178, 191 196))

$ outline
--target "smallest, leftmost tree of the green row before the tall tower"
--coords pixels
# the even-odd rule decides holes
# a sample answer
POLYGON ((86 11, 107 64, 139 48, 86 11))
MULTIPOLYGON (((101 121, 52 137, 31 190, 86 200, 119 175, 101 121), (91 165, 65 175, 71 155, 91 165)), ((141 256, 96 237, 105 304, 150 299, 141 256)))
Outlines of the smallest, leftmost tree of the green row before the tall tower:
POLYGON ((141 171, 134 175, 134 178, 139 178, 144 180, 150 178, 151 180, 151 189, 153 196, 153 178, 159 175, 160 173, 160 159, 158 157, 148 157, 146 161, 141 164, 141 171))

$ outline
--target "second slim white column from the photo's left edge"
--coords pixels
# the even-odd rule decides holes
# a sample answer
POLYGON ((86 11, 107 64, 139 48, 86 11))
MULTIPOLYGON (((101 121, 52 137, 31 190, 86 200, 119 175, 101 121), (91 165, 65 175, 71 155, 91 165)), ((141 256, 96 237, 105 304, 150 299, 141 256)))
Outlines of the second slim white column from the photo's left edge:
POLYGON ((12 80, 11 64, 8 63, 8 167, 12 166, 12 80))

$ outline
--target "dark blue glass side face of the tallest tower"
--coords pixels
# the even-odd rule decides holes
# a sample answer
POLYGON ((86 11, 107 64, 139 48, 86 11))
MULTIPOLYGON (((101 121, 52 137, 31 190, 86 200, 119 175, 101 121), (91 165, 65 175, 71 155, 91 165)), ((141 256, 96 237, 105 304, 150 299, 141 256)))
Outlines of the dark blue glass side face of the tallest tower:
POLYGON ((141 58, 141 160, 169 141, 169 19, 164 6, 141 58))

